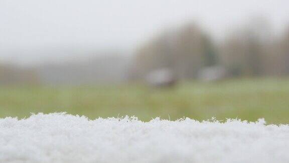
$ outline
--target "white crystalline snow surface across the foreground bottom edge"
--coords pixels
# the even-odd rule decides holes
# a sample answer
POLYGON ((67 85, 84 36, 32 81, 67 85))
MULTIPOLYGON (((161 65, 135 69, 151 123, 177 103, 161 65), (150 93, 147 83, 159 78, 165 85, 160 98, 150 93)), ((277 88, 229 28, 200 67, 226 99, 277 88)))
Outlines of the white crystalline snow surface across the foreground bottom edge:
POLYGON ((289 162, 289 126, 240 120, 0 119, 0 162, 289 162))

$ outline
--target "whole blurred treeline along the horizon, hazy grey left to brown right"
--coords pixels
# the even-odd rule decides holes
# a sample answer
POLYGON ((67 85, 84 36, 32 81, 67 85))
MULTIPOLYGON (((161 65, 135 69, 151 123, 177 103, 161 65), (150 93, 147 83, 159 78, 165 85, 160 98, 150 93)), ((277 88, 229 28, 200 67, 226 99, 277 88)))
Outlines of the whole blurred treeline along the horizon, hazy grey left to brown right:
MULTIPOLYGON (((272 31, 265 19, 252 19, 222 33, 224 38, 216 41, 198 24, 187 23, 151 38, 135 51, 133 58, 104 56, 83 63, 29 68, 0 63, 0 85, 136 81, 146 80, 150 73, 160 69, 170 70, 176 80, 200 76, 209 79, 288 76, 289 26, 278 35, 272 31)), ((99 54, 95 52, 95 56, 99 54)))

